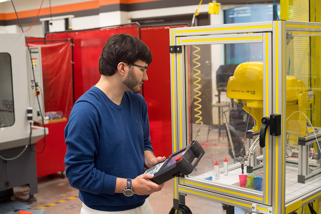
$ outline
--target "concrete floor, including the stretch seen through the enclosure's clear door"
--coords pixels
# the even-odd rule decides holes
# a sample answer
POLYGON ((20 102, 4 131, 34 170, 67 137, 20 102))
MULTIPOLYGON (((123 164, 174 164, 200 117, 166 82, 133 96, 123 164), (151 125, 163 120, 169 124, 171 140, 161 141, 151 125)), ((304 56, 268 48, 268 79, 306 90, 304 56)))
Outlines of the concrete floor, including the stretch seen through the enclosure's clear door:
MULTIPOLYGON (((197 126, 193 128, 198 130, 197 126)), ((233 160, 228 153, 229 148, 226 133, 219 136, 218 132, 212 130, 208 134, 208 126, 205 125, 200 130, 200 133, 201 134, 197 136, 197 141, 203 146, 205 155, 192 173, 193 176, 197 176, 206 171, 213 170, 213 162, 215 162, 215 160, 228 158, 230 159, 229 162, 231 164, 233 163, 233 160)), ((220 163, 220 165, 222 164, 223 163, 220 163)), ((14 187, 13 190, 16 200, 28 204, 29 206, 31 206, 31 209, 37 209, 39 207, 44 207, 57 201, 78 196, 78 190, 72 188, 69 185, 67 178, 62 178, 61 173, 38 178, 38 193, 34 195, 37 201, 31 204, 26 202, 29 197, 28 186, 14 187)), ((154 209, 154 214, 168 214, 173 207, 173 181, 170 180, 166 182, 163 189, 159 192, 153 193, 148 198, 148 200, 152 208, 154 209)), ((189 195, 185 197, 185 200, 185 204, 190 208, 193 214, 202 214, 209 212, 215 214, 226 213, 226 210, 223 210, 221 203, 189 195)), ((79 207, 79 212, 80 209, 81 207, 79 207)), ((235 214, 242 214, 246 211, 247 210, 235 208, 235 214)))

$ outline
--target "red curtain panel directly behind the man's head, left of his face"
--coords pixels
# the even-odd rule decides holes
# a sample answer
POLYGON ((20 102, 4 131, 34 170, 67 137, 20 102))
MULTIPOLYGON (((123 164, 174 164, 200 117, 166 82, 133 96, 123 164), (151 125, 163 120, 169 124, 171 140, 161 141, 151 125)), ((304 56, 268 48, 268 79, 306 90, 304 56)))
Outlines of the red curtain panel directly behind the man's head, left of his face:
POLYGON ((74 44, 74 99, 75 101, 100 79, 98 60, 107 39, 117 33, 139 38, 139 26, 128 24, 108 28, 74 30, 46 34, 48 42, 72 39, 74 44))

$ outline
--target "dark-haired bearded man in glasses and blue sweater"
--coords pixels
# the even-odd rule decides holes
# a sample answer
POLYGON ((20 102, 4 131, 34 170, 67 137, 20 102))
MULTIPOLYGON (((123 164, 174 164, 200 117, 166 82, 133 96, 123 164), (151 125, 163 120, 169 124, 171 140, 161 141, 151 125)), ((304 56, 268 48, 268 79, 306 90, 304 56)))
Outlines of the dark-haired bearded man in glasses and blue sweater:
POLYGON ((138 94, 151 62, 140 39, 111 36, 99 58, 99 82, 74 104, 65 127, 65 171, 79 189, 81 214, 153 213, 147 197, 164 184, 149 180, 144 167, 165 157, 153 154, 147 104, 138 94))

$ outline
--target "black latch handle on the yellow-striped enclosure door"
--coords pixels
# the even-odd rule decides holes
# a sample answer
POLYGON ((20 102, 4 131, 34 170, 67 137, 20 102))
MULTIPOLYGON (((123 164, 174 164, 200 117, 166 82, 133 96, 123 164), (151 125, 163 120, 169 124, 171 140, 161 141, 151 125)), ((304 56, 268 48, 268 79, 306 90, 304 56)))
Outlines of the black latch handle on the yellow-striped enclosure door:
POLYGON ((260 147, 265 147, 265 134, 267 126, 270 126, 270 135, 279 136, 281 135, 281 115, 270 115, 270 117, 263 117, 262 126, 260 130, 260 147))

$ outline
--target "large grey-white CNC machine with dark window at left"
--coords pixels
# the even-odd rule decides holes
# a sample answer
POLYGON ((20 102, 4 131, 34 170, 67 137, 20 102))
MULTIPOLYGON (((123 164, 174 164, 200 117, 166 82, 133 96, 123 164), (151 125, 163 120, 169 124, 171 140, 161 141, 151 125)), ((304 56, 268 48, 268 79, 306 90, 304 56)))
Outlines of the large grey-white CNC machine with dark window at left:
POLYGON ((41 50, 30 47, 29 52, 21 33, 0 34, 0 41, 0 199, 27 184, 33 202, 38 192, 35 143, 48 134, 48 128, 33 125, 44 116, 41 50))

